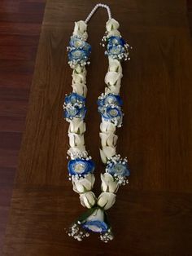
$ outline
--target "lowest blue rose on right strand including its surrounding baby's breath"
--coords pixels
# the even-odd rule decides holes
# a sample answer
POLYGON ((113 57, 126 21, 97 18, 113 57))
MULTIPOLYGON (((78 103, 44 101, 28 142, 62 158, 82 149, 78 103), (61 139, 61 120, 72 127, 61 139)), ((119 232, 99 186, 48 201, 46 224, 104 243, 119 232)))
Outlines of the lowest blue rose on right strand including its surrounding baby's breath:
POLYGON ((128 183, 126 177, 130 175, 127 158, 120 158, 120 155, 111 157, 107 161, 106 172, 113 175, 120 184, 128 183))

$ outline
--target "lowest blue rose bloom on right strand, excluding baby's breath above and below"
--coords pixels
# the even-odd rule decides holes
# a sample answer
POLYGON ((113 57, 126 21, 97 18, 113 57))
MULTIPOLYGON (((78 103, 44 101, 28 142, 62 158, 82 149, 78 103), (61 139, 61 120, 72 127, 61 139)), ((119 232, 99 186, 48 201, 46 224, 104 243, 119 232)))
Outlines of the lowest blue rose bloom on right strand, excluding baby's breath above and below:
POLYGON ((106 166, 106 170, 109 174, 114 175, 116 174, 116 176, 129 176, 130 175, 130 171, 128 169, 128 165, 126 162, 122 163, 122 162, 113 162, 111 161, 107 166, 106 166))

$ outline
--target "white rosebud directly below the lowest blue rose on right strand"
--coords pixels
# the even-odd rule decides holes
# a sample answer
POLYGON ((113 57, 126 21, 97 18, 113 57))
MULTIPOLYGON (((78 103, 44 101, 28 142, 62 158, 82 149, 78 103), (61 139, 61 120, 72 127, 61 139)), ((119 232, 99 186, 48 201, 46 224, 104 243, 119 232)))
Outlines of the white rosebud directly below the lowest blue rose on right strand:
POLYGON ((119 183, 113 178, 111 174, 101 174, 102 179, 102 191, 116 193, 119 188, 119 183))

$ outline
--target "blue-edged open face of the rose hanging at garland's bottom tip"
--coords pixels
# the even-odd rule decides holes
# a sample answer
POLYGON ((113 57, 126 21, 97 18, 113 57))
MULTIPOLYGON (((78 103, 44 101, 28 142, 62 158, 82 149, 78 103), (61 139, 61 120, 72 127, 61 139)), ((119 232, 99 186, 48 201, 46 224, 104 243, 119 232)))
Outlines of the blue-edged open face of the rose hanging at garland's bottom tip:
POLYGON ((99 220, 86 221, 85 223, 83 223, 82 226, 85 227, 85 229, 92 232, 102 233, 102 232, 107 232, 108 230, 107 223, 99 220))

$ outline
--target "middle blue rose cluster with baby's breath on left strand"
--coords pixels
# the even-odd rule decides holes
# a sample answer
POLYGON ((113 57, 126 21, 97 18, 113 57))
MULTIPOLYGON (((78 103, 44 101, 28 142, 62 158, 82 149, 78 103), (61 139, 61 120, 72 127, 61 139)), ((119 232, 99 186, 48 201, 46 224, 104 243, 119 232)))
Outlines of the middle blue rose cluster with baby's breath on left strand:
POLYGON ((74 117, 84 119, 86 113, 85 97, 73 92, 65 97, 63 108, 67 121, 72 120, 74 117))

